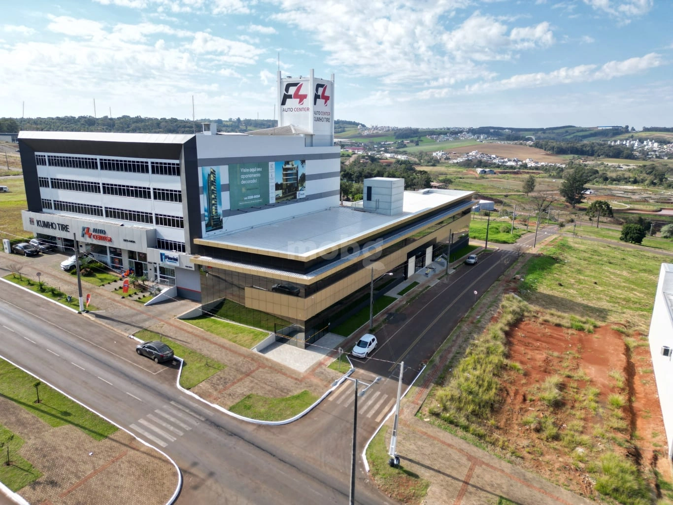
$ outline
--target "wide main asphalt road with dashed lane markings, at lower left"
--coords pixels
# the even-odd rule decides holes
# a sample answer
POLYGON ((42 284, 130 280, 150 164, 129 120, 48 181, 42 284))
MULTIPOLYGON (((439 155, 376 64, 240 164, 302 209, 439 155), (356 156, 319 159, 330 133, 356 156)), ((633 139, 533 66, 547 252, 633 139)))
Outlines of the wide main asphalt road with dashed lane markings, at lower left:
MULTIPOLYGON (((349 481, 317 468, 293 440, 215 411, 175 389, 176 370, 135 354, 135 341, 87 316, 3 283, 2 354, 152 443, 143 422, 159 419, 174 438, 160 447, 184 476, 178 504, 343 504, 349 481), (148 417, 152 416, 152 417, 148 417), (167 417, 168 416, 168 417, 167 417), (176 431, 177 430, 177 431, 176 431), (180 434, 178 434, 180 432, 180 434)), ((153 421, 152 424, 156 422, 153 421)), ((162 440, 160 437, 155 437, 162 440)), ((349 444, 340 444, 348 452, 349 444)), ((315 451, 314 451, 315 452, 315 451)), ((361 504, 386 503, 362 490, 361 504)))

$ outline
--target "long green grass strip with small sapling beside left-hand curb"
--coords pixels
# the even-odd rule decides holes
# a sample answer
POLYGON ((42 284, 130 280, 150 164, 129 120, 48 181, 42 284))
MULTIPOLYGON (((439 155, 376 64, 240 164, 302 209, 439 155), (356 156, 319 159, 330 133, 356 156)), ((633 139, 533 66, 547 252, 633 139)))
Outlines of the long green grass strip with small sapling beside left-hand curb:
POLYGON ((61 395, 46 384, 39 386, 40 403, 36 403, 36 378, 0 360, 0 394, 30 411, 56 428, 71 424, 94 440, 103 440, 116 432, 116 426, 61 395))

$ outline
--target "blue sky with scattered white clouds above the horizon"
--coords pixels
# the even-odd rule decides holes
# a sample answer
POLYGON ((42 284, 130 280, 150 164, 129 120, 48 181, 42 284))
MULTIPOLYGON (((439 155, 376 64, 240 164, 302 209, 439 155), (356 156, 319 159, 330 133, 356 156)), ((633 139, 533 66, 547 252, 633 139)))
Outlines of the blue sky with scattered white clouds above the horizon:
POLYGON ((271 119, 335 75, 368 126, 673 126, 670 0, 30 0, 0 20, 0 116, 271 119))

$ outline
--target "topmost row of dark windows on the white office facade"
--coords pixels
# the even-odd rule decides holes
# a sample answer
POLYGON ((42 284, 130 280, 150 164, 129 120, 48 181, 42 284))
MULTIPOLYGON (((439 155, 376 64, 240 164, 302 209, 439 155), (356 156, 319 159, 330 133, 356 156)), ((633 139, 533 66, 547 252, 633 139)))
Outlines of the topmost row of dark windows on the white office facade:
MULTIPOLYGON (((98 170, 98 160, 84 156, 61 156, 55 154, 36 154, 35 164, 38 166, 63 166, 67 168, 89 168, 98 170)), ((180 175, 180 162, 148 162, 145 160, 116 160, 113 158, 100 158, 100 170, 112 172, 133 172, 137 174, 155 175, 180 175)))

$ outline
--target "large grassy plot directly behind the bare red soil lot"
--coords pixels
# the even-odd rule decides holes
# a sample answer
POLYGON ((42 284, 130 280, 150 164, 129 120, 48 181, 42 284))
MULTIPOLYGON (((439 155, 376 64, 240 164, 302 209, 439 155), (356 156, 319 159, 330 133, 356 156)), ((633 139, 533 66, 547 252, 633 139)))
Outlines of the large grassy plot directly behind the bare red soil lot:
POLYGON ((520 294, 535 305, 621 322, 647 335, 662 261, 647 251, 564 236, 527 263, 520 294))

